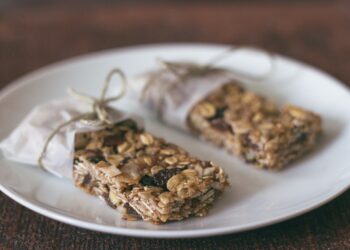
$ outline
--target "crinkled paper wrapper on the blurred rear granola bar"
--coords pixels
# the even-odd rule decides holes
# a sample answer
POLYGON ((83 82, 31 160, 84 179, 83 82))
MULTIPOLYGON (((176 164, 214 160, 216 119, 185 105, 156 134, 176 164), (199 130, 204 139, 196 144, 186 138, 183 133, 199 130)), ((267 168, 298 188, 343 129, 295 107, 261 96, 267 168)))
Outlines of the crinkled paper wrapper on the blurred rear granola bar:
POLYGON ((187 116, 193 106, 209 93, 237 76, 225 69, 207 69, 187 74, 194 64, 176 64, 177 74, 169 69, 158 69, 136 77, 131 87, 143 104, 158 112, 163 122, 188 131, 187 116), (179 79, 179 75, 186 77, 179 79))

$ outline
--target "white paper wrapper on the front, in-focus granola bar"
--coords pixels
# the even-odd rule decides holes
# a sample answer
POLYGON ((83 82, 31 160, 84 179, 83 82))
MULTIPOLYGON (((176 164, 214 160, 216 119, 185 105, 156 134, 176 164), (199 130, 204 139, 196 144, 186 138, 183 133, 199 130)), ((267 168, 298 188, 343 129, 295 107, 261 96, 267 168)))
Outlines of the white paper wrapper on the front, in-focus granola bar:
MULTIPOLYGON (((0 149, 9 160, 38 165, 38 158, 52 131, 71 118, 90 111, 88 105, 71 98, 38 105, 0 143, 0 149)), ((139 117, 115 109, 112 109, 109 115, 113 123, 131 118, 140 127, 143 126, 139 117)), ((75 134, 99 129, 103 127, 88 126, 79 121, 64 127, 49 143, 43 159, 46 170, 59 177, 72 178, 75 134)))

